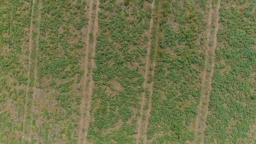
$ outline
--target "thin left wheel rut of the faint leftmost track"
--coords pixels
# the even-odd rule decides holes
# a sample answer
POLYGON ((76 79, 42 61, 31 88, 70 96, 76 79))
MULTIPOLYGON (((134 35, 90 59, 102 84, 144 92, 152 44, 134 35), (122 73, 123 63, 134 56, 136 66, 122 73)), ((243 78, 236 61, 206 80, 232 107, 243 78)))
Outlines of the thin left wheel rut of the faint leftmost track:
POLYGON ((31 19, 30 19, 30 26, 29 26, 29 64, 28 64, 28 72, 27 72, 27 76, 28 76, 28 80, 27 80, 27 88, 26 88, 26 96, 25 96, 25 105, 24 105, 24 117, 23 117, 23 128, 22 128, 22 135, 23 137, 27 137, 26 136, 26 132, 25 132, 25 123, 26 123, 26 117, 27 117, 27 104, 28 104, 28 94, 29 94, 29 83, 31 82, 30 80, 30 68, 32 65, 32 59, 31 59, 31 55, 32 55, 32 48, 33 48, 33 40, 32 40, 32 31, 34 28, 33 25, 33 21, 34 21, 34 10, 35 10, 35 0, 32 1, 32 11, 31 11, 31 19))

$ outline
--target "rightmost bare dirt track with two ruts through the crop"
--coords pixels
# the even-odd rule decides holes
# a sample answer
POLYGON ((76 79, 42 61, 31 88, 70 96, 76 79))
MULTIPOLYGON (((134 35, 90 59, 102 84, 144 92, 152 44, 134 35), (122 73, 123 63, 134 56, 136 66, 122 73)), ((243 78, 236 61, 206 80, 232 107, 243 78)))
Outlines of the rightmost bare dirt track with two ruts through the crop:
POLYGON ((205 54, 205 68, 203 70, 203 81, 202 81, 202 91, 201 91, 201 98, 200 104, 198 109, 198 115, 196 119, 196 126, 195 126, 195 143, 204 143, 204 133, 206 128, 206 120, 207 115, 209 113, 208 104, 210 101, 210 94, 212 90, 212 77, 214 72, 214 64, 215 64, 215 49, 217 46, 217 32, 219 30, 219 8, 220 8, 220 0, 217 2, 216 6, 216 21, 215 21, 215 29, 213 35, 211 36, 211 16, 212 16, 212 5, 210 0, 210 12, 208 18, 208 27, 207 27, 207 42, 206 42, 206 54, 205 54), (213 39, 213 45, 209 47, 210 39, 213 39), (210 51, 209 51, 210 49, 210 51), (211 62, 209 62, 211 59, 211 62), (210 70, 210 73, 207 75, 207 70, 210 70), (208 76, 208 77, 206 77, 208 76))

